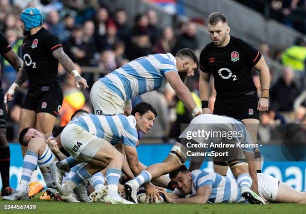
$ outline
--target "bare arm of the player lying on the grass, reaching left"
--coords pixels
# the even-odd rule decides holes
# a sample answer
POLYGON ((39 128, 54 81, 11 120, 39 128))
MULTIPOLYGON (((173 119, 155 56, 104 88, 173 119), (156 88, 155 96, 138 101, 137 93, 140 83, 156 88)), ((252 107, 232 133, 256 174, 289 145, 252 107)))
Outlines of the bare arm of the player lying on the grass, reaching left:
POLYGON ((200 186, 194 196, 182 198, 175 194, 169 194, 165 189, 158 189, 158 191, 164 194, 166 201, 169 203, 207 203, 211 189, 211 185, 200 186))

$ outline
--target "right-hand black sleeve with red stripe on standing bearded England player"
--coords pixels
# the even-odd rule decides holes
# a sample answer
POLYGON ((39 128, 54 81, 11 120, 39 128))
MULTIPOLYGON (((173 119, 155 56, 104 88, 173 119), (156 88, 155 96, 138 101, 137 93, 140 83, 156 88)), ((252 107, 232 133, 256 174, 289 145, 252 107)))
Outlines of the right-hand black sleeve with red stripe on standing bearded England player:
POLYGON ((246 43, 245 41, 239 39, 239 42, 240 51, 242 51, 243 55, 245 56, 245 61, 251 66, 257 64, 261 58, 261 53, 255 47, 246 43))

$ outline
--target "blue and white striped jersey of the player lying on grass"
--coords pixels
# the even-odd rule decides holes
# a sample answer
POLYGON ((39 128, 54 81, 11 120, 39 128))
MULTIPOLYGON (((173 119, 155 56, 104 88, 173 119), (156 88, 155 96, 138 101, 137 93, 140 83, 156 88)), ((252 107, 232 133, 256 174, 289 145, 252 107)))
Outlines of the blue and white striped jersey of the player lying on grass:
MULTIPOLYGON (((211 186, 211 194, 208 203, 244 203, 246 200, 241 196, 240 188, 234 178, 222 176, 215 172, 196 169, 192 174, 192 193, 205 185, 211 186)), ((182 194, 178 189, 174 190, 176 194, 182 194)))

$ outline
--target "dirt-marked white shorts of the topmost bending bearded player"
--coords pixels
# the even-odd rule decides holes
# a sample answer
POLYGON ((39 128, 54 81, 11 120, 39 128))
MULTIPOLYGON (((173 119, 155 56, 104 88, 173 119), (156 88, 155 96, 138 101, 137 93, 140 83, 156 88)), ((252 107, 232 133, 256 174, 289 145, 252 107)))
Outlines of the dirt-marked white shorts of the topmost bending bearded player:
POLYGON ((92 85, 90 99, 95 114, 123 113, 124 100, 99 80, 92 85))

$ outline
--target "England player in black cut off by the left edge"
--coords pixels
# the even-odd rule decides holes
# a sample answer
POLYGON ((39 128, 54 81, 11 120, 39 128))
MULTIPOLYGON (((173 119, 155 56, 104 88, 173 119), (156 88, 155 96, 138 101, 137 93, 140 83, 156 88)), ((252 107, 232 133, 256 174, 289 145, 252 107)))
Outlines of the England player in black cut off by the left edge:
MULTIPOLYGON (((11 49, 7 39, 0 32, 0 53, 15 70, 19 70, 22 66, 22 60, 11 49)), ((2 179, 1 196, 12 193, 12 188, 9 187, 9 161, 10 152, 6 140, 6 100, 3 98, 2 83, 0 80, 0 173, 2 179)))

